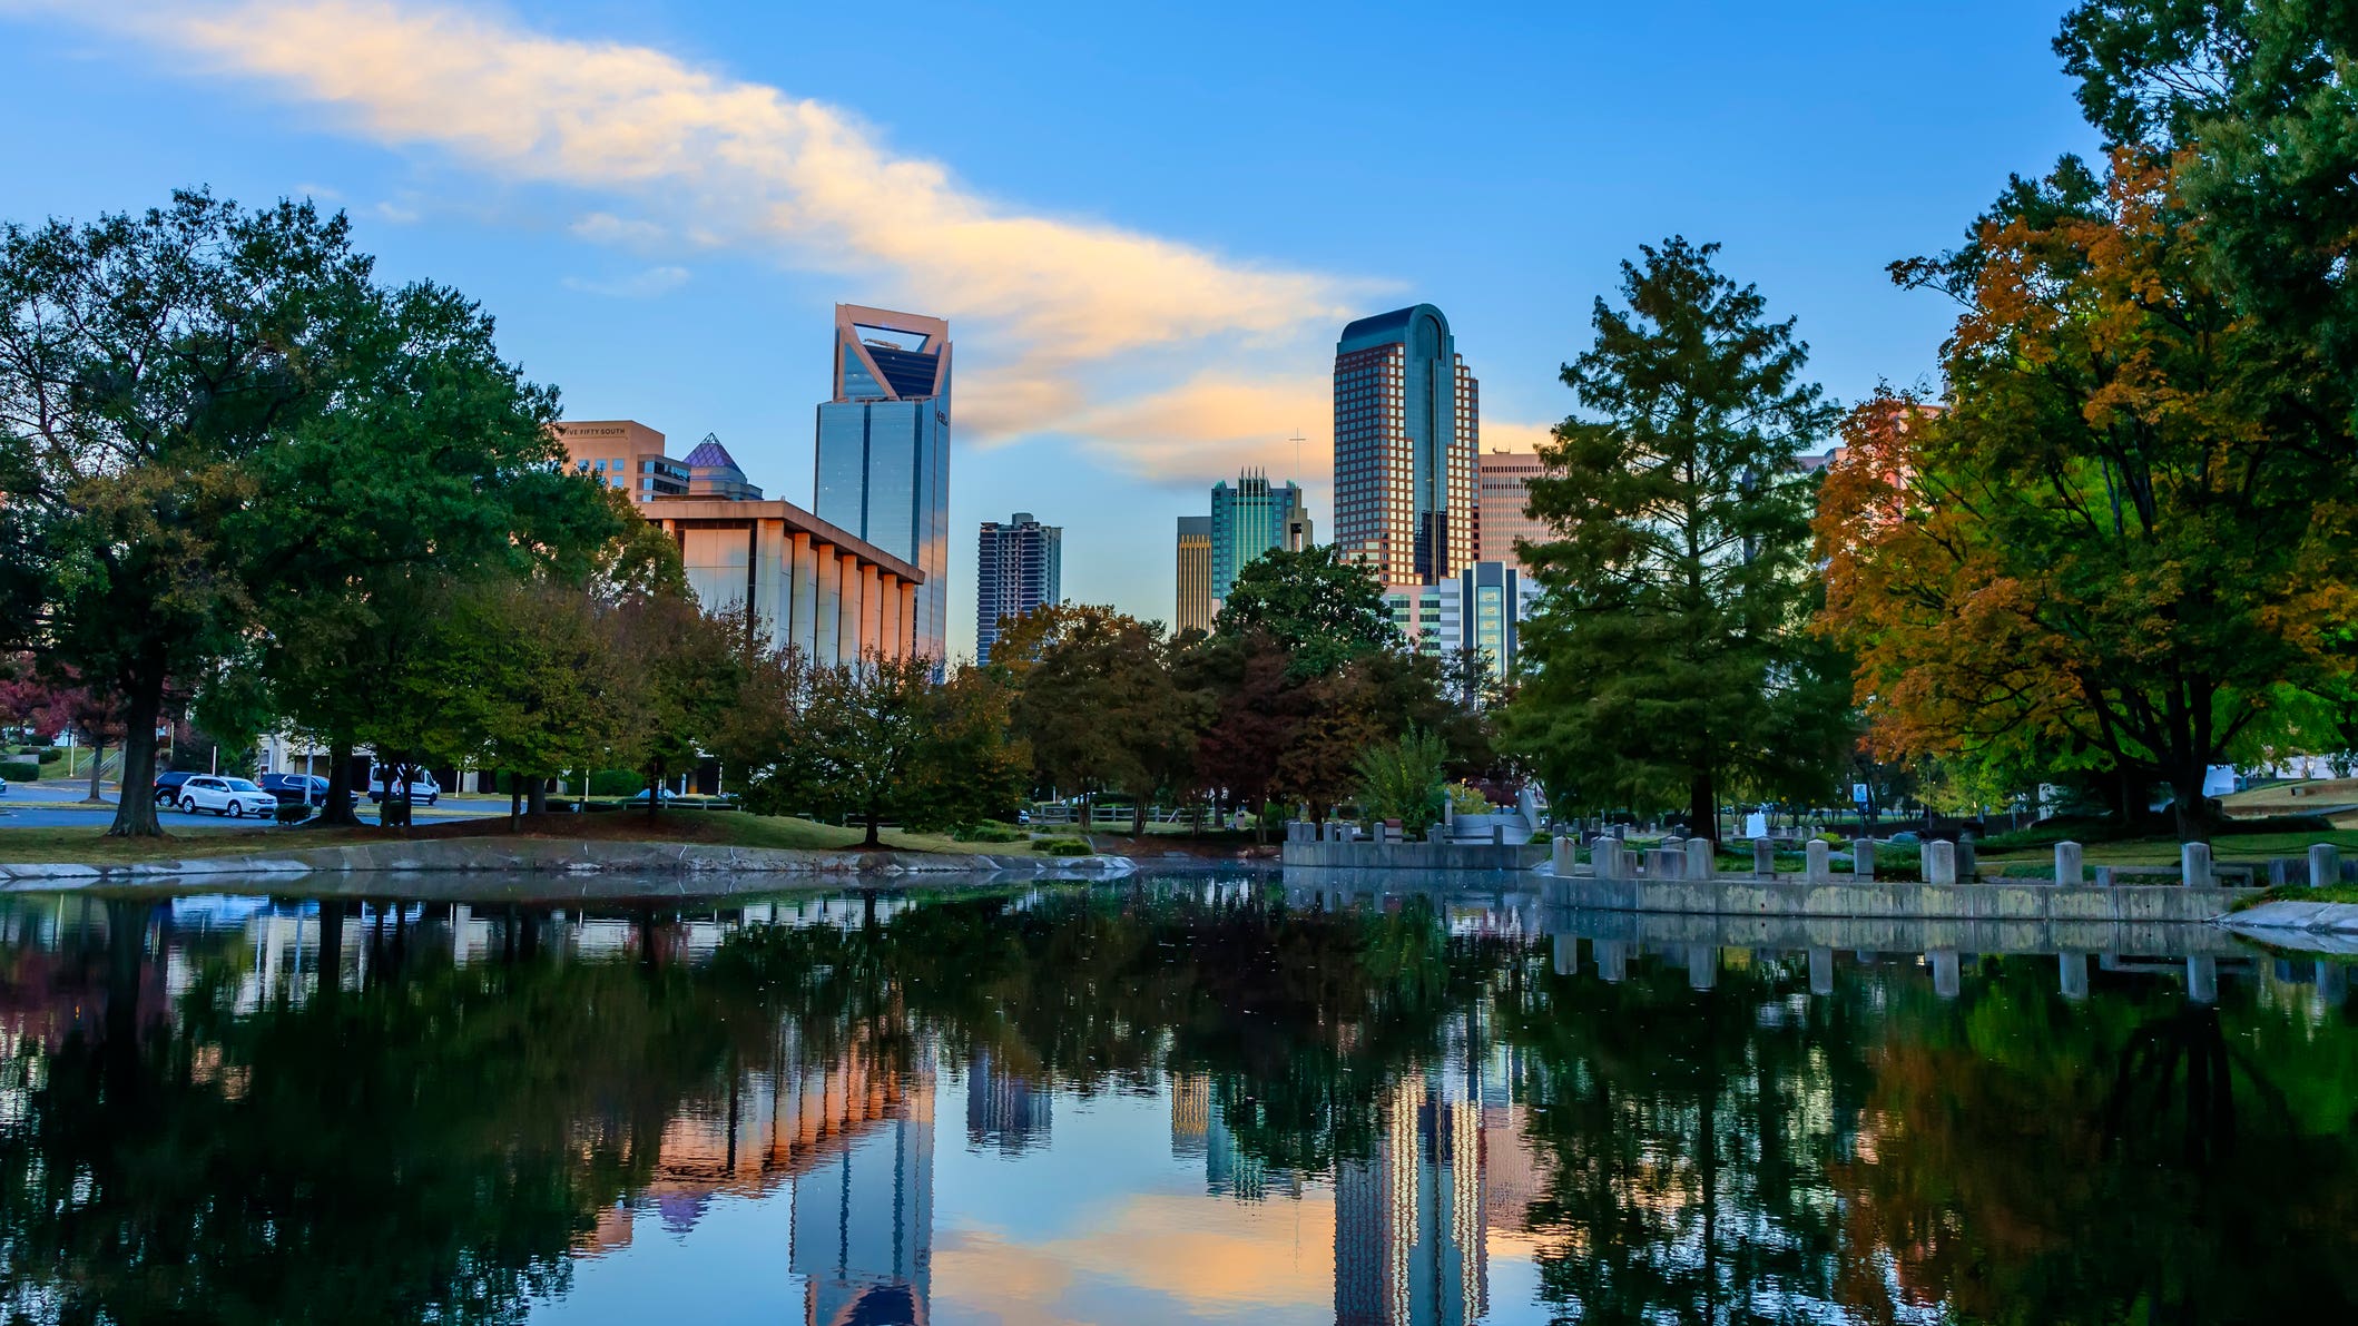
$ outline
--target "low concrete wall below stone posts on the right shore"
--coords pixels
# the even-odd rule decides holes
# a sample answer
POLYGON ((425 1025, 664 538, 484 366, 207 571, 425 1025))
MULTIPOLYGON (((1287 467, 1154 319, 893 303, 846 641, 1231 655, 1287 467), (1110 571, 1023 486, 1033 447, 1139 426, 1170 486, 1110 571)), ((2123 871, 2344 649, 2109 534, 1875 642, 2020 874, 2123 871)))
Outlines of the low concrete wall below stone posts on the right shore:
POLYGON ((2250 890, 2068 887, 2068 885, 1806 885, 1768 880, 1589 880, 1552 878, 1544 897, 1582 911, 1667 911, 1693 915, 1889 915, 1915 920, 2103 920, 2188 923, 2221 915, 2250 890))

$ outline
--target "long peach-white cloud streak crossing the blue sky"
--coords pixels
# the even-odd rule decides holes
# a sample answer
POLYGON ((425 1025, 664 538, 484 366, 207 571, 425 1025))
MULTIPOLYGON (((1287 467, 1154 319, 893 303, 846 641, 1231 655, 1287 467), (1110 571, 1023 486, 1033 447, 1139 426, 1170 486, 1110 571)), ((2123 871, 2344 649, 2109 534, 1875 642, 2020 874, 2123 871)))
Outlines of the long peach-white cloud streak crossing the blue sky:
POLYGON ((549 38, 432 2, 31 7, 156 47, 174 68, 262 83, 370 142, 439 151, 500 179, 597 189, 653 215, 590 212, 578 236, 651 257, 667 234, 762 252, 839 274, 847 300, 946 316, 967 436, 1101 418, 1099 451, 1153 474, 1174 444, 1245 446, 1243 413, 1257 396, 1285 403, 1283 418, 1254 425, 1264 436, 1323 425, 1320 342, 1377 290, 986 198, 946 165, 891 151, 851 111, 651 47, 549 38), (1297 363, 1302 378, 1247 387, 1203 373, 1240 349, 1297 363), (1139 399, 1096 385, 1113 378, 1139 399), (1233 432, 1184 432, 1198 422, 1233 432))

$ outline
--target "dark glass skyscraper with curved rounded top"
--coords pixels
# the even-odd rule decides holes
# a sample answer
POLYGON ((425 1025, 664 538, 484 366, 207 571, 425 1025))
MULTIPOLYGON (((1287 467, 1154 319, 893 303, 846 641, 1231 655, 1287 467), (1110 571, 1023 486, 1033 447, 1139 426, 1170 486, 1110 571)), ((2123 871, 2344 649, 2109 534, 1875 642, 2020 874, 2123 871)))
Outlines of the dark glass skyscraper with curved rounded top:
POLYGON ((1335 545, 1387 585, 1474 562, 1474 373, 1431 304, 1361 319, 1335 342, 1335 545))

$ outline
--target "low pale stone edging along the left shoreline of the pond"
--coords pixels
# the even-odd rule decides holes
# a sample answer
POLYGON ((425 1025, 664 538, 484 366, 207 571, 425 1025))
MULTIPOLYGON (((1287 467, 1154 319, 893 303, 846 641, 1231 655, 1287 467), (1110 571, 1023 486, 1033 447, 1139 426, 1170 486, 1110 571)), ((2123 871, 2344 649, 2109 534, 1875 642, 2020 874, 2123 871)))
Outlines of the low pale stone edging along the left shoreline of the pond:
POLYGON ((571 842, 559 838, 427 838, 413 842, 354 842, 252 856, 193 856, 123 866, 7 866, 0 887, 59 887, 97 880, 186 875, 307 875, 354 871, 498 871, 498 873, 792 873, 792 875, 931 875, 1016 871, 1026 875, 1127 875, 1122 856, 988 856, 946 852, 797 852, 783 847, 717 847, 703 842, 571 842))

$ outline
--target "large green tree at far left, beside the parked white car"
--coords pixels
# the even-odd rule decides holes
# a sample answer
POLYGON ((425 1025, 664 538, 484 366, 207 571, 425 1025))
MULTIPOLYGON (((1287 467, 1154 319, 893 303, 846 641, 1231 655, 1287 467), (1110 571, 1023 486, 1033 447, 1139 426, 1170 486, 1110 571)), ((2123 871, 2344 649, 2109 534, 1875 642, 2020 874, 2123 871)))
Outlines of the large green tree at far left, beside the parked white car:
MULTIPOLYGON (((0 434, 28 470, 7 505, 35 526, 38 642, 120 701, 125 788, 156 772, 170 696, 255 628, 245 552, 285 495, 252 460, 325 406, 368 276, 309 203, 174 193, 0 231, 0 434)), ((108 833, 163 831, 125 795, 108 833)))

